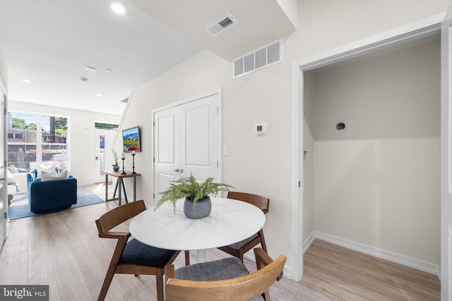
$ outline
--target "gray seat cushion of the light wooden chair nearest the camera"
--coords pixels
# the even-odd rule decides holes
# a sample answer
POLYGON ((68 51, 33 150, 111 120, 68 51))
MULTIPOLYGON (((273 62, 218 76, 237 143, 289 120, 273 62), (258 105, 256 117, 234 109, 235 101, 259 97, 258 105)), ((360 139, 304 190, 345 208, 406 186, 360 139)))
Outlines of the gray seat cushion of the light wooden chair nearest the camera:
MULTIPOLYGON (((248 274, 249 271, 240 259, 236 257, 228 257, 225 259, 215 260, 214 262, 203 262, 201 264, 182 266, 175 271, 177 279, 190 281, 226 280, 248 274)), ((258 296, 252 301, 264 301, 264 299, 262 296, 258 296)))

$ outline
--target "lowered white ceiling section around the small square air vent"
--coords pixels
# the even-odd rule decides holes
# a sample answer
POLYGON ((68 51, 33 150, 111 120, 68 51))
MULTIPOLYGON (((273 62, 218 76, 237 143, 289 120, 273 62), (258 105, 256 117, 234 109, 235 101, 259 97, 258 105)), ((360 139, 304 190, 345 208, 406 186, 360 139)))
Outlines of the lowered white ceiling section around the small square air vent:
POLYGON ((297 24, 296 0, 127 1, 228 61, 280 39, 297 24), (213 37, 205 28, 225 13, 238 23, 213 37))

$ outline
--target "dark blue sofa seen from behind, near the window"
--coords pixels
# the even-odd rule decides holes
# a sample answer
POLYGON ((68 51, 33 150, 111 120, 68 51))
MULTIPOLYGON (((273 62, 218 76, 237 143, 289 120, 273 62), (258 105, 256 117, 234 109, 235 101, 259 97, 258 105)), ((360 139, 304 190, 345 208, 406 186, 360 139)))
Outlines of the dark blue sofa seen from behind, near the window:
POLYGON ((77 179, 42 181, 37 171, 27 173, 28 204, 33 213, 60 211, 77 204, 77 179))

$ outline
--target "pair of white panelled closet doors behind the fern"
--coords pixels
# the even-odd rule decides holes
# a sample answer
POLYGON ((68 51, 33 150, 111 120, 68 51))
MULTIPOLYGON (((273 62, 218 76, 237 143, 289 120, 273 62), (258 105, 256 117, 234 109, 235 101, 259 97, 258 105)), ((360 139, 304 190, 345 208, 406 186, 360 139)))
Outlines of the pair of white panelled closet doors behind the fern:
POLYGON ((199 180, 220 180, 220 94, 210 93, 154 118, 154 204, 169 183, 190 173, 199 180))

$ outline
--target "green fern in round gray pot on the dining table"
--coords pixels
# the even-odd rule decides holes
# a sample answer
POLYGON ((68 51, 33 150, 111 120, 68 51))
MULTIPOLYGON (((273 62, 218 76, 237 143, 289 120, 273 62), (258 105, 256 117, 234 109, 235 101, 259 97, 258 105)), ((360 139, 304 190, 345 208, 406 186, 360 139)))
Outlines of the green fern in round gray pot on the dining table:
POLYGON ((160 192, 162 197, 157 202, 155 209, 158 209, 165 202, 173 205, 176 213, 176 203, 179 199, 185 198, 184 214, 190 219, 201 219, 210 214, 212 204, 209 195, 217 195, 220 191, 229 191, 233 188, 225 183, 215 183, 215 178, 207 178, 199 183, 190 173, 189 177, 180 178, 169 183, 169 188, 160 192), (198 204, 198 206, 196 206, 198 204))

